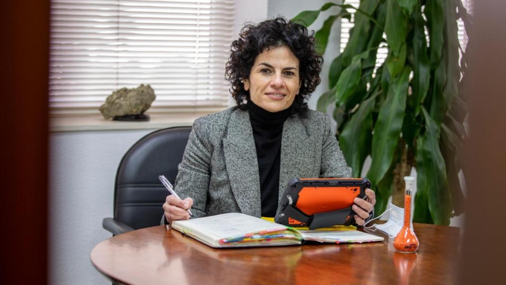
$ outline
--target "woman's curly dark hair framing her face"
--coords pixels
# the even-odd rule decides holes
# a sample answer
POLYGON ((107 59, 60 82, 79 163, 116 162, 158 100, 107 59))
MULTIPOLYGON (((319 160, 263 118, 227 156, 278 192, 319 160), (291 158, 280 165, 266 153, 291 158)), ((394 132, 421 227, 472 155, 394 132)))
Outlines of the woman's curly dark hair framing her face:
POLYGON ((286 46, 299 59, 301 88, 293 100, 291 115, 305 117, 308 111, 307 99, 320 84, 323 58, 315 51, 314 31, 283 17, 266 20, 258 25, 246 24, 239 39, 232 42, 230 57, 226 64, 225 78, 230 82, 230 93, 239 109, 246 110, 244 99, 249 92, 244 90, 242 79, 249 78, 251 67, 257 55, 271 47, 286 46))

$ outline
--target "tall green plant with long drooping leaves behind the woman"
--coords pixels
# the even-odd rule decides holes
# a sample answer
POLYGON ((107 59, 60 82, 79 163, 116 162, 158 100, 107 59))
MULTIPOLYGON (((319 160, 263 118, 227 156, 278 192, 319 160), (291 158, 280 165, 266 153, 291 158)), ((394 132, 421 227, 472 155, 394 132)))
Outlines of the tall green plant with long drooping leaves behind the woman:
POLYGON ((320 53, 331 44, 335 20, 354 13, 354 27, 343 53, 330 64, 330 90, 317 109, 325 112, 335 103, 336 136, 354 176, 371 155, 367 177, 377 187, 376 213, 385 210, 392 194, 402 205, 403 176, 415 167, 413 220, 448 225, 463 211, 458 154, 467 138, 467 109, 458 92, 466 57, 457 19, 468 29, 471 16, 460 0, 362 0, 358 9, 327 3, 292 20, 309 26, 332 6, 341 12, 315 33, 320 53), (388 48, 388 57, 376 66, 379 47, 388 48))

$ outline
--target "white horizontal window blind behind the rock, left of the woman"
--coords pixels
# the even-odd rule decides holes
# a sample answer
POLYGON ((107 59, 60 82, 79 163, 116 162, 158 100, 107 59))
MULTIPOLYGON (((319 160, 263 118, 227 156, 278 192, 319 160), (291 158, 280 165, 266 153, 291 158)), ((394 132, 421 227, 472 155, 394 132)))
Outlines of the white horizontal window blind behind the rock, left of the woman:
POLYGON ((223 110, 233 17, 233 0, 52 0, 52 114, 96 114, 140 84, 150 113, 223 110))

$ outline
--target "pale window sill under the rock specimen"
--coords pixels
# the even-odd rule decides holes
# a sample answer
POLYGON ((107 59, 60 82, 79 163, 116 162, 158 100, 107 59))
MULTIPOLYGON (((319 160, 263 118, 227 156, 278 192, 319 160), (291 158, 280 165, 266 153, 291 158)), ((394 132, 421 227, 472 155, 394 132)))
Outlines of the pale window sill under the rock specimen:
POLYGON ((104 119, 100 114, 78 117, 54 117, 50 119, 51 132, 76 131, 111 131, 111 130, 140 130, 161 129, 168 127, 191 126, 195 119, 208 113, 172 113, 149 114, 147 122, 125 122, 104 119))

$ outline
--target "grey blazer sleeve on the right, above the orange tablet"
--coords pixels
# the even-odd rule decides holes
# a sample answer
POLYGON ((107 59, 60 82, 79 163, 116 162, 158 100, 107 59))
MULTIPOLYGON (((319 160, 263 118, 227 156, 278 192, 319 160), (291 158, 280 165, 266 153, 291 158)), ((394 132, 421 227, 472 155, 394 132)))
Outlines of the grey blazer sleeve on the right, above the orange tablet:
POLYGON ((352 169, 348 167, 339 142, 330 128, 330 117, 325 114, 323 123, 320 178, 351 178, 352 169))

